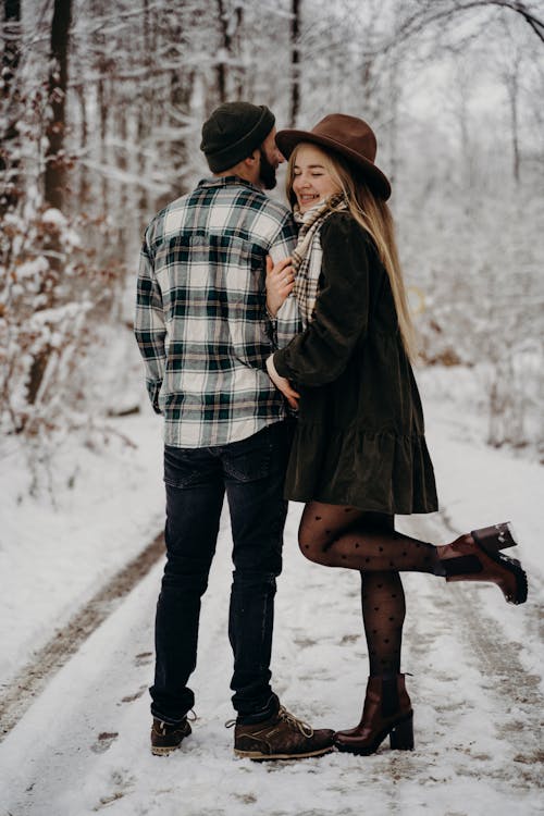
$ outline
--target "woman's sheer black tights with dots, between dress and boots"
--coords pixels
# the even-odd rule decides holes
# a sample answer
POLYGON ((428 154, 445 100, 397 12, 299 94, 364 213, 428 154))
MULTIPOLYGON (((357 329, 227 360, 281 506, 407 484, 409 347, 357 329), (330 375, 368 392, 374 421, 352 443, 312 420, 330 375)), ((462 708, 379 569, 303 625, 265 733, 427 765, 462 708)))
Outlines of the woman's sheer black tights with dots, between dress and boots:
POLYGON ((360 572, 370 673, 397 675, 406 614, 399 572, 440 573, 436 547, 395 532, 393 516, 321 502, 306 505, 298 541, 311 561, 360 572))

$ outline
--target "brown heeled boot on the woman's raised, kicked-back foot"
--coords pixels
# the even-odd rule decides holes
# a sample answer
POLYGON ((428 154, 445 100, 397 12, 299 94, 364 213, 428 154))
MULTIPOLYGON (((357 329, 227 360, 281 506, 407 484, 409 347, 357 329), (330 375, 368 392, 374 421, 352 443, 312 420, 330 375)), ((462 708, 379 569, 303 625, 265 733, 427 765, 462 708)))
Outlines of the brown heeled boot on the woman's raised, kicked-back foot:
POLYGON ((472 530, 452 544, 436 547, 438 564, 446 581, 489 581, 495 583, 509 604, 527 601, 527 576, 516 558, 502 549, 515 547, 517 541, 508 522, 472 530))

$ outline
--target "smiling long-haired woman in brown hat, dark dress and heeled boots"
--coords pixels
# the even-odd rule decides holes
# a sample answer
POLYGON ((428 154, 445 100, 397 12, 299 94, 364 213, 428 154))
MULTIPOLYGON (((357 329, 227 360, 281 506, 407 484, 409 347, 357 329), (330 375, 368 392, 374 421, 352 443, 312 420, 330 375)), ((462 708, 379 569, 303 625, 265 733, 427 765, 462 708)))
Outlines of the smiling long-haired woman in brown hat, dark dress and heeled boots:
POLYGON ((360 119, 325 116, 310 132, 282 131, 287 196, 301 223, 292 267, 269 274, 269 310, 293 287, 304 331, 268 360, 299 418, 286 497, 305 502, 299 544, 310 560, 361 574, 370 677, 360 724, 335 734, 341 751, 373 753, 390 735, 413 747, 400 673, 405 596, 400 572, 491 581, 527 598, 508 524, 433 546, 395 532, 395 514, 437 509, 413 379, 412 326, 375 137, 360 119))

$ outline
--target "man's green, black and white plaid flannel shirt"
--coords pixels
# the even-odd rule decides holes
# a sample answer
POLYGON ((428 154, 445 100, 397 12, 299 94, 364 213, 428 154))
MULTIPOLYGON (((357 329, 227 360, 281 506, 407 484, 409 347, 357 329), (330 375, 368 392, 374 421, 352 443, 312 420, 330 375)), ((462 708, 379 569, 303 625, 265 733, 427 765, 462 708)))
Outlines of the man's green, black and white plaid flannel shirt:
POLYGON ((135 334, 166 445, 224 445, 285 417, 265 360, 300 326, 292 296, 267 317, 265 257, 295 242, 287 208, 236 176, 200 182, 149 224, 135 334))

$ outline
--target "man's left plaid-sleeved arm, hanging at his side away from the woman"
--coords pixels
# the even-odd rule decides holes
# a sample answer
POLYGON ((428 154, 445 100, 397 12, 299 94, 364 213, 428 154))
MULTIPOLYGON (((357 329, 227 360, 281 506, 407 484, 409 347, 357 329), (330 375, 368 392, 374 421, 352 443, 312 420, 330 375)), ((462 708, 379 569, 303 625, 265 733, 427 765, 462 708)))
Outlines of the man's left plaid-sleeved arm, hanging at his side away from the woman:
POLYGON ((146 386, 156 413, 161 413, 159 392, 164 378, 166 329, 162 294, 153 274, 153 262, 146 242, 141 247, 134 334, 146 367, 146 386))

